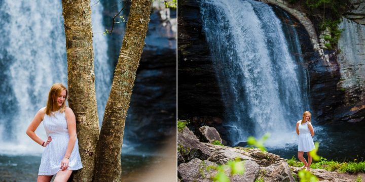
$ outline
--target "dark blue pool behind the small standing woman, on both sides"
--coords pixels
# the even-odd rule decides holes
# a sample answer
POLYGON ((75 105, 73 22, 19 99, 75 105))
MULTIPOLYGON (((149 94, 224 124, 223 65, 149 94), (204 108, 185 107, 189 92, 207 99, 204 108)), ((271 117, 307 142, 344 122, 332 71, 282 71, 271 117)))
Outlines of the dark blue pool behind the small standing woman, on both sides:
MULTIPOLYGON (((315 125, 313 140, 319 142, 317 154, 337 161, 365 161, 364 123, 339 123, 315 125)), ((293 137, 297 137, 296 134, 293 137)), ((298 154, 297 143, 287 143, 283 147, 267 147, 268 152, 282 158, 291 158, 298 154)))

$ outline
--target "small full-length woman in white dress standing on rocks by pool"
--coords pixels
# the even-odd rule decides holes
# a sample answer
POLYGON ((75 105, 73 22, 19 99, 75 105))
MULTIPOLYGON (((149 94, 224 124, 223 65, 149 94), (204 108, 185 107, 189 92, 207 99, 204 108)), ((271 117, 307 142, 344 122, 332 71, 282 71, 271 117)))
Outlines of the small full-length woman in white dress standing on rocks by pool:
POLYGON ((314 136, 314 131, 311 123, 311 113, 309 111, 304 112, 303 119, 297 122, 297 134, 299 135, 298 158, 304 163, 302 169, 307 168, 306 170, 310 170, 312 156, 309 154, 309 152, 315 149, 315 147, 312 138, 314 136), (303 157, 304 152, 307 152, 308 163, 303 157))

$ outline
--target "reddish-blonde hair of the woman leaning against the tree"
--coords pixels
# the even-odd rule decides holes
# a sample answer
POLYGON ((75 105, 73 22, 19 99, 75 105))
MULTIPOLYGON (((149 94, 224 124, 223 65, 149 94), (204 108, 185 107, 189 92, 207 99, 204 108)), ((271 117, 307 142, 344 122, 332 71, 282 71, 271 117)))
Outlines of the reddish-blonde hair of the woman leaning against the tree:
POLYGON ((48 101, 46 104, 46 109, 45 109, 45 113, 47 115, 51 115, 51 112, 56 109, 54 108, 54 104, 57 102, 56 98, 58 97, 58 95, 62 92, 62 90, 66 90, 66 99, 65 101, 62 103, 59 111, 62 113, 64 112, 64 110, 66 109, 66 100, 68 97, 68 91, 67 88, 62 84, 62 83, 55 83, 51 86, 50 92, 48 94, 48 101))

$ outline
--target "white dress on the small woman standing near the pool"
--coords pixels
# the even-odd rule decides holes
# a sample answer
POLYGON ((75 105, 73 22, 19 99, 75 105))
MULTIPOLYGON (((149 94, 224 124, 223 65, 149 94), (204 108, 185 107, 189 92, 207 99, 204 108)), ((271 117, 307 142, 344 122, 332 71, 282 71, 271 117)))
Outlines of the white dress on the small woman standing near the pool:
POLYGON ((298 139, 298 151, 309 152, 315 149, 312 135, 309 132, 308 121, 304 124, 299 121, 299 139, 298 139))

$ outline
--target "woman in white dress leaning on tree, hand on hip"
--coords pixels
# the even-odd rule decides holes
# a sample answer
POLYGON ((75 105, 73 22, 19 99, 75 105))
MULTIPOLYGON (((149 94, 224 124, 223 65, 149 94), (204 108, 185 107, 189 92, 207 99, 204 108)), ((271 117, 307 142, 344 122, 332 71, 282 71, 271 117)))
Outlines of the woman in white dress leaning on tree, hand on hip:
POLYGON ((45 147, 37 181, 67 181, 72 170, 82 168, 76 135, 75 114, 66 107, 67 89, 61 83, 52 85, 46 107, 35 114, 26 133, 36 143, 45 147), (43 121, 48 139, 44 141, 35 134, 43 121))

